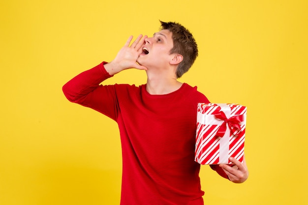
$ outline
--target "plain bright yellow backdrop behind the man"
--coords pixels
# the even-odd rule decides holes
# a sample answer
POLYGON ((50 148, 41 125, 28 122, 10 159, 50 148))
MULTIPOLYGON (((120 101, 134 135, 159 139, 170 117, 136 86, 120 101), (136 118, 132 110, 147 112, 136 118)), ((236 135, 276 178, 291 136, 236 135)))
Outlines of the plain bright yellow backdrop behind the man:
MULTIPOLYGON (((205 204, 308 204, 307 0, 10 0, 0 3, 0 205, 119 204, 117 124, 68 102, 62 85, 159 19, 199 45, 180 81, 248 108, 250 176, 234 184, 203 166, 205 204)), ((139 70, 108 79, 145 82, 139 70)))

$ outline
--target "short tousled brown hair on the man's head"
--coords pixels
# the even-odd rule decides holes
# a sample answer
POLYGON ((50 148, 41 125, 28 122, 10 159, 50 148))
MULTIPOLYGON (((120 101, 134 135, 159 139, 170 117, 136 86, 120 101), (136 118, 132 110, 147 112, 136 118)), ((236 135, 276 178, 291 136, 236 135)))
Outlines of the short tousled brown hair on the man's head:
POLYGON ((189 70, 193 62, 198 56, 198 46, 188 29, 176 22, 162 22, 160 21, 162 29, 168 29, 172 32, 173 48, 171 54, 180 54, 183 56, 177 68, 177 78, 189 70))

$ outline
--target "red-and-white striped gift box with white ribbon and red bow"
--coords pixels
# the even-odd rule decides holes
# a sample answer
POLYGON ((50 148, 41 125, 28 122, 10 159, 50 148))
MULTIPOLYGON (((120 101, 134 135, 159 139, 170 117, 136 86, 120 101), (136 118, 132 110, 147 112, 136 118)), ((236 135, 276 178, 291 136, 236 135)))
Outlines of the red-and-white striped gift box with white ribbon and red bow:
POLYGON ((246 107, 239 104, 198 103, 195 161, 199 164, 243 162, 246 107))

